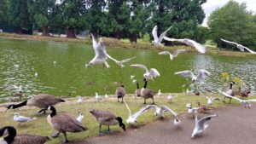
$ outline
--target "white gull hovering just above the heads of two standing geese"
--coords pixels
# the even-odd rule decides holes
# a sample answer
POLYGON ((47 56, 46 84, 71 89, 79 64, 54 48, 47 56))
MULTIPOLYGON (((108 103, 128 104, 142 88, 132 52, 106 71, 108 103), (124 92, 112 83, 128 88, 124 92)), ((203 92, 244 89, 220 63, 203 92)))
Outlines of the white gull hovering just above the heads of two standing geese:
POLYGON ((160 76, 160 72, 158 72, 155 68, 150 68, 150 71, 148 71, 148 68, 146 66, 140 65, 140 64, 131 65, 131 67, 143 68, 144 70, 146 70, 146 72, 143 74, 143 77, 146 80, 148 79, 153 80, 153 78, 160 76))

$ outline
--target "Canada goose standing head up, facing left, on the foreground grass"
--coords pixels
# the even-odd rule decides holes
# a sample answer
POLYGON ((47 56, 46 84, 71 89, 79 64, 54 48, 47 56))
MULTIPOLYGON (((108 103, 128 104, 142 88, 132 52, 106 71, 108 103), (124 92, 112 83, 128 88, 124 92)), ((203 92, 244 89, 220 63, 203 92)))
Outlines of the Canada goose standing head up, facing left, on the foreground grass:
POLYGON ((67 114, 57 114, 56 109, 53 106, 48 107, 48 109, 51 113, 47 117, 47 121, 52 128, 59 132, 57 135, 60 133, 64 134, 64 142, 68 142, 66 132, 77 133, 88 130, 76 118, 67 114))

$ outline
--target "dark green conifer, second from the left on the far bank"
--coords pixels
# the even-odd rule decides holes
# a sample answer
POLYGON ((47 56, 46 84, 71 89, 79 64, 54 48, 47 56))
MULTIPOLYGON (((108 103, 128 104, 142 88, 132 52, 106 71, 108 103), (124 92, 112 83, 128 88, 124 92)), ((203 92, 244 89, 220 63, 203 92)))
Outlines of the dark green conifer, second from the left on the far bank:
POLYGON ((42 28, 43 36, 49 36, 49 23, 54 7, 55 0, 29 0, 28 8, 32 21, 38 28, 42 28))

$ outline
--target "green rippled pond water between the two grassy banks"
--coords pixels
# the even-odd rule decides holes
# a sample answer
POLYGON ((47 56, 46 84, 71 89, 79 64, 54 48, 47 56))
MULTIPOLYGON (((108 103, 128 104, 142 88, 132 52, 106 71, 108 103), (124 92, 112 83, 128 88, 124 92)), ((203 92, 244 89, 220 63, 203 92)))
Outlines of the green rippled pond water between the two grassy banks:
POLYGON ((189 80, 174 75, 183 70, 211 72, 204 87, 219 89, 222 85, 220 74, 230 72, 232 78, 239 77, 244 87, 255 92, 256 56, 232 57, 218 55, 181 54, 171 61, 167 55, 158 55, 157 50, 113 49, 108 48, 109 55, 117 60, 136 56, 136 59, 125 63, 124 68, 108 60, 110 68, 95 65, 86 68, 84 65, 94 57, 90 45, 76 43, 55 43, 26 41, 0 38, 0 99, 9 97, 15 92, 14 87, 22 87, 25 96, 48 93, 52 95, 100 95, 114 94, 117 84, 122 82, 128 93, 133 93, 136 84, 130 76, 135 75, 140 86, 143 86, 143 69, 130 64, 143 64, 154 67, 160 72, 159 78, 148 82, 148 88, 162 92, 183 92, 189 87, 189 80), (55 62, 54 62, 55 61, 55 62), (38 77, 35 77, 35 73, 38 77))

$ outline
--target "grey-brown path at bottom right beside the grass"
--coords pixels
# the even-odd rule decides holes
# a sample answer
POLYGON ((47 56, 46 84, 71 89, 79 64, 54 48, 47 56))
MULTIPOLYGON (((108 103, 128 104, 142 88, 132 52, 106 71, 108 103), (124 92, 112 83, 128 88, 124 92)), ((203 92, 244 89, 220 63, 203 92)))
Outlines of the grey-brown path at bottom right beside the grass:
POLYGON ((127 130, 116 135, 87 138, 76 144, 255 144, 256 105, 218 108, 218 118, 209 121, 209 127, 201 137, 191 139, 195 120, 184 116, 180 130, 175 130, 172 119, 156 121, 137 130, 127 130))

